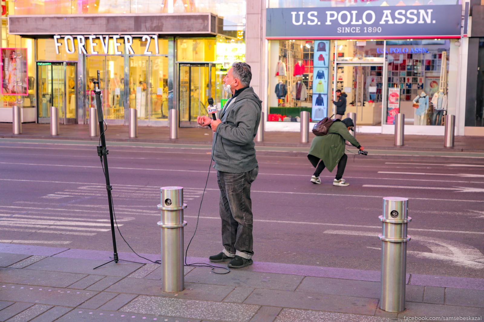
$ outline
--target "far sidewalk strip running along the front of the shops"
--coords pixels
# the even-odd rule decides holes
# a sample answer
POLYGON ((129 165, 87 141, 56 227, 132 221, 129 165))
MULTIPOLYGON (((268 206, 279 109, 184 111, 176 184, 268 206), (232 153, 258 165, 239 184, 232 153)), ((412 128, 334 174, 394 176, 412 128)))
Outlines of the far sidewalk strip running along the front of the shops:
MULTIPOLYGON (((12 134, 11 123, 0 123, 0 138, 22 138, 42 140, 91 140, 99 138, 89 136, 89 125, 60 125, 59 135, 50 135, 49 124, 22 124, 22 134, 12 134)), ((105 132, 106 142, 147 142, 168 144, 197 144, 208 145, 212 143, 212 131, 201 127, 181 127, 178 139, 170 140, 168 127, 138 126, 138 137, 129 138, 128 126, 107 126, 105 132)), ((311 145, 313 134, 309 134, 309 142, 300 142, 299 132, 264 132, 264 141, 257 142, 256 147, 294 148, 295 151, 307 151, 311 145)), ((444 147, 444 137, 428 135, 407 135, 404 146, 394 145, 394 136, 386 134, 357 133, 356 139, 367 151, 393 150, 393 151, 435 151, 442 153, 484 153, 484 137, 456 136, 453 148, 444 147)), ((356 150, 355 150, 356 151, 356 150)))

